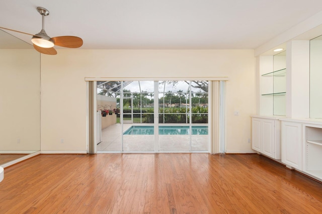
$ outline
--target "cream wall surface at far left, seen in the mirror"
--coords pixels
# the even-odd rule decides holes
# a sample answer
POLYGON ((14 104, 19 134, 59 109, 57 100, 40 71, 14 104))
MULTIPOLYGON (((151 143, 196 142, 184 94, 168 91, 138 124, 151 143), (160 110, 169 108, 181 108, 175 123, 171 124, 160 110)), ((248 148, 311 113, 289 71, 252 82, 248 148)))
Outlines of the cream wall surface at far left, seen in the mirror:
POLYGON ((0 153, 40 150, 40 54, 0 49, 0 153))

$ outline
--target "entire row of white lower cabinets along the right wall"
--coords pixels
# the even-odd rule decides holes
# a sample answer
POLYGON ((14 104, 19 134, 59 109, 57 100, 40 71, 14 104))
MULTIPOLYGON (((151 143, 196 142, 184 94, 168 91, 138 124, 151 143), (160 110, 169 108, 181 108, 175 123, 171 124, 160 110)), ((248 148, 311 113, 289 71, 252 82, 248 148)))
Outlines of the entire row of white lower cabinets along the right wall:
POLYGON ((252 149, 322 181, 322 120, 252 117, 252 149))

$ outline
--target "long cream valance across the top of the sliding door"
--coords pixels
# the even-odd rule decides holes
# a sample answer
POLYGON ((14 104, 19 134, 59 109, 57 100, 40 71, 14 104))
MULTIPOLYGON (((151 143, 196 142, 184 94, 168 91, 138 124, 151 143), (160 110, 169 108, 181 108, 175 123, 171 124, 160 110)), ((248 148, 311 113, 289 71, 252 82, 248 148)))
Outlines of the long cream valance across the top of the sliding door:
POLYGON ((228 77, 85 77, 85 81, 228 81, 228 77))

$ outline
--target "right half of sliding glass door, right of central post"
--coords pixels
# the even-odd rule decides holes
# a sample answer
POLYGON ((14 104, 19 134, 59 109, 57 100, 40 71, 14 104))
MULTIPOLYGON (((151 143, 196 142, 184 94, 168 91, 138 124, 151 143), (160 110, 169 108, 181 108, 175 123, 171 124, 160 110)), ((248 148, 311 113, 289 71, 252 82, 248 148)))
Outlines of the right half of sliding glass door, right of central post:
POLYGON ((208 151, 208 82, 158 84, 159 152, 208 151))

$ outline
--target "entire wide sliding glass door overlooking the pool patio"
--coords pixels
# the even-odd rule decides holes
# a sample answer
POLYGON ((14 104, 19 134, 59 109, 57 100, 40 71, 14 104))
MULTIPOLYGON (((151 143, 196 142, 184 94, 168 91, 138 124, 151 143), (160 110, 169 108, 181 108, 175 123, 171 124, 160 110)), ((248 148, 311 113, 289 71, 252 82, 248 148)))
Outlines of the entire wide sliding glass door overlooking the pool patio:
POLYGON ((209 151, 208 81, 106 81, 98 92, 110 100, 98 107, 108 121, 98 151, 209 151))

